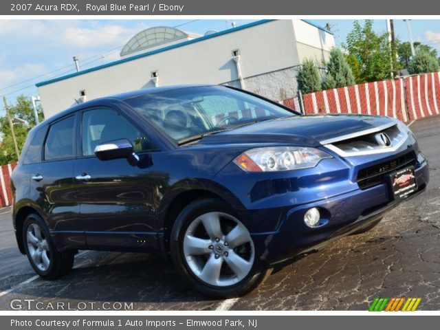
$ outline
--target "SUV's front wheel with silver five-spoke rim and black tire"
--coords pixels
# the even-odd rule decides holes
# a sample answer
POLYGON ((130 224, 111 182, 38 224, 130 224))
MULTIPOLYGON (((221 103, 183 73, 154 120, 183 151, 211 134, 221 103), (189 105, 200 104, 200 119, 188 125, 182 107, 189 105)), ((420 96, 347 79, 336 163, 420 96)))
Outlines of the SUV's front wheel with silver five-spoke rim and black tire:
POLYGON ((170 252, 184 280, 213 298, 247 294, 267 274, 248 229, 221 199, 198 199, 181 211, 170 252))

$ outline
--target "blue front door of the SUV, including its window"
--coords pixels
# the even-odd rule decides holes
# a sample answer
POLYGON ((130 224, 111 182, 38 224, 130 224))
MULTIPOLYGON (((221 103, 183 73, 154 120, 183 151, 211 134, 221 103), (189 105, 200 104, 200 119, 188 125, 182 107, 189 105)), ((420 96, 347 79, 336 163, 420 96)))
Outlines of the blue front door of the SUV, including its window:
POLYGON ((150 165, 155 146, 133 122, 109 107, 86 109, 80 123, 74 177, 87 246, 106 250, 154 247, 155 184, 150 165), (140 157, 137 166, 127 159, 101 161, 94 154, 98 144, 122 138, 131 141, 140 157))

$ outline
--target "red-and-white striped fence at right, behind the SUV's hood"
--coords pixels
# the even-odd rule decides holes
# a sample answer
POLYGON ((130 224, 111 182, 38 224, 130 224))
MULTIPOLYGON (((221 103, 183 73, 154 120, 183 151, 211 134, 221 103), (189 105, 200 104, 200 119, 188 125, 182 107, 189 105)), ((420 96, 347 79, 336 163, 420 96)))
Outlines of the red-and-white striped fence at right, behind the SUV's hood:
POLYGON ((387 115, 408 122, 440 113, 440 72, 317 91, 303 102, 306 114, 387 115))

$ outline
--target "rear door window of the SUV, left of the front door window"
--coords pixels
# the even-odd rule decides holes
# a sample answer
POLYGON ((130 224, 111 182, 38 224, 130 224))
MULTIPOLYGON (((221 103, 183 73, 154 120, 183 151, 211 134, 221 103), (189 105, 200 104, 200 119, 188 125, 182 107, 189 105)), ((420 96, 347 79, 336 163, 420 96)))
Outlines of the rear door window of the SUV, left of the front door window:
POLYGON ((54 160, 74 157, 75 116, 52 124, 44 146, 44 159, 54 160))

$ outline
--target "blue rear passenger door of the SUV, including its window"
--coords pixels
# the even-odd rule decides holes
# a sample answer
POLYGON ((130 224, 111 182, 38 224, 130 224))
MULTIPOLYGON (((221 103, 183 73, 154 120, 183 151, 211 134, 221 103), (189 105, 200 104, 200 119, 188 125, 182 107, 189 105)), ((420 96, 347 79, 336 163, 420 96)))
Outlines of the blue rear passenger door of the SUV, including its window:
POLYGON ((42 159, 32 165, 30 199, 45 214, 54 239, 69 248, 82 247, 83 230, 78 227, 74 158, 76 157, 76 114, 52 122, 47 129, 42 159))

